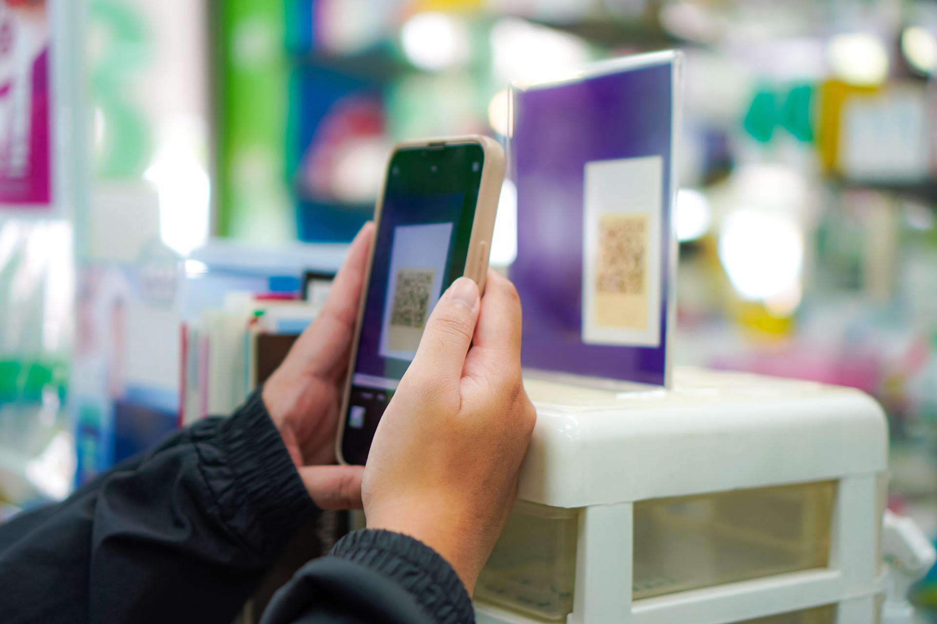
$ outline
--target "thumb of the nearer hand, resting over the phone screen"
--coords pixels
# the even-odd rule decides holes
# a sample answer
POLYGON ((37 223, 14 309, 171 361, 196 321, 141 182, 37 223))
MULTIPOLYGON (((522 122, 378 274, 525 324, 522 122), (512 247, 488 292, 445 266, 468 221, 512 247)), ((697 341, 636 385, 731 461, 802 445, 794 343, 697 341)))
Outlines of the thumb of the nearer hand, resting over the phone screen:
MULTIPOLYGON (((478 284, 460 277, 442 297, 423 331, 409 370, 431 372, 440 381, 458 382, 481 308, 478 284)), ((408 370, 408 373, 409 373, 408 370)))

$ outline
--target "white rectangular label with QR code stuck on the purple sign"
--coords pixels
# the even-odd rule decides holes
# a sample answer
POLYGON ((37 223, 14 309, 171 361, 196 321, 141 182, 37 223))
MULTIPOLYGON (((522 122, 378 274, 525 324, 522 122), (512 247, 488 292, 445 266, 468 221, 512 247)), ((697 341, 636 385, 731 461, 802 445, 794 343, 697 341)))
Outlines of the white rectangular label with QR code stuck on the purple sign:
POLYGON ((661 343, 661 156, 586 164, 583 326, 587 344, 661 343))

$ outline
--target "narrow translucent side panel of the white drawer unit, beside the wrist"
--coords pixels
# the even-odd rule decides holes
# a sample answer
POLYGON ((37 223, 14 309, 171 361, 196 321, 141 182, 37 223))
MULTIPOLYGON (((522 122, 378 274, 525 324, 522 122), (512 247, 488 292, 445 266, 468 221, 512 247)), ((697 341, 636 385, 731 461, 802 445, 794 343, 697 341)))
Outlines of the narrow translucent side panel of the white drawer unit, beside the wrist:
POLYGON ((573 611, 578 509, 517 501, 475 585, 475 598, 529 616, 573 611))

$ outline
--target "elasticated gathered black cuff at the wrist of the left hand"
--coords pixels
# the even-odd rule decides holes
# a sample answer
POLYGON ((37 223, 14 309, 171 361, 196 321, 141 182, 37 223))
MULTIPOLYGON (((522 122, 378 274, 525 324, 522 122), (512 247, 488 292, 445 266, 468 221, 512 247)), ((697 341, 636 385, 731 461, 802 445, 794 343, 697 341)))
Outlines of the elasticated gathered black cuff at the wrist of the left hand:
POLYGON ((206 479, 216 489, 216 501, 231 528, 260 553, 283 544, 292 530, 318 511, 267 414, 260 390, 230 418, 218 422, 212 442, 217 455, 201 451, 217 459, 207 462, 206 479))

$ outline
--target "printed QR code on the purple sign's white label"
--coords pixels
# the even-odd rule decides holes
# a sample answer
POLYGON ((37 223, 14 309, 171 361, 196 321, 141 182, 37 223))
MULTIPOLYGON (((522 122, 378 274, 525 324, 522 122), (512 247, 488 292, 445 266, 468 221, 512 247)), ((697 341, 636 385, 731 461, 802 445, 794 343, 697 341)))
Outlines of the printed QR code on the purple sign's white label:
POLYGON ((647 259, 645 215, 606 214, 599 223, 596 290, 643 295, 647 259))

